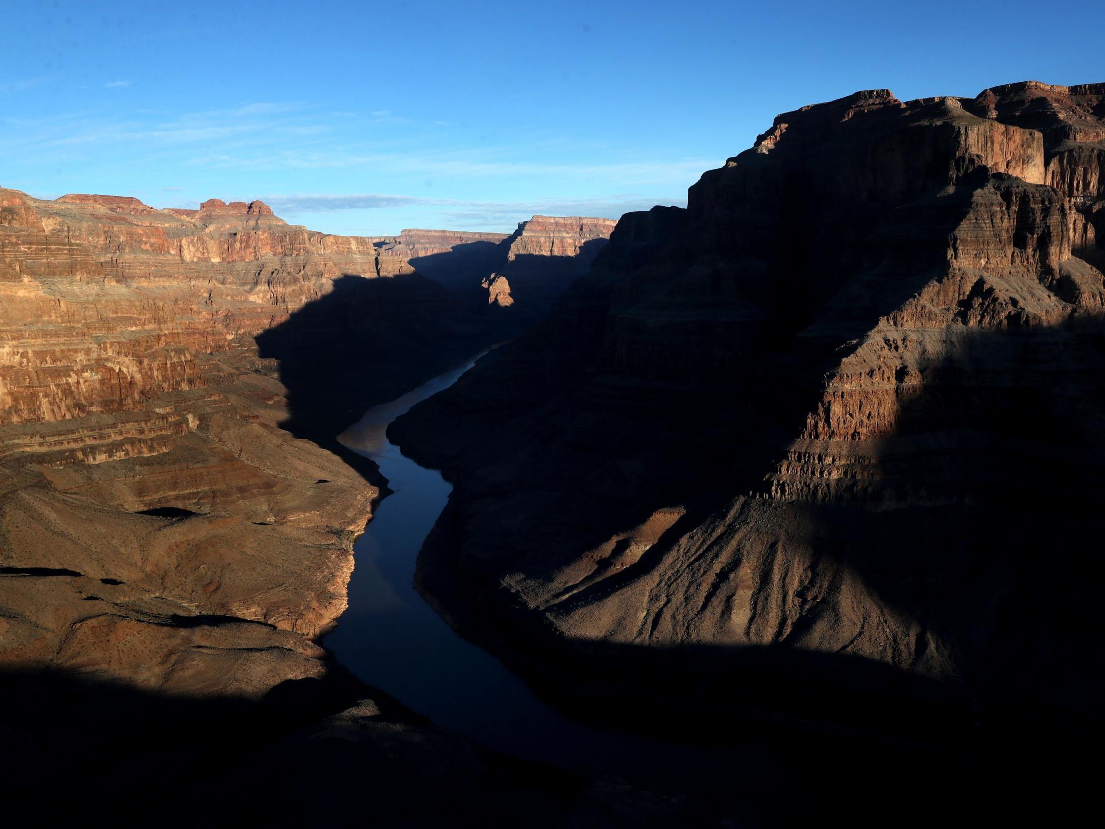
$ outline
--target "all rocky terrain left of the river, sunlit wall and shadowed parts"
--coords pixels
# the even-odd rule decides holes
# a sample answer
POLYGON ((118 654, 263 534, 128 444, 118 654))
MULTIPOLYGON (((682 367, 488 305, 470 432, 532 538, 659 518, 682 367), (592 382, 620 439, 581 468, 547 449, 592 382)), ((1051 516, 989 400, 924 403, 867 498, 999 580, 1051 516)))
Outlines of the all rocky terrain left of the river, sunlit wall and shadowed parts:
MULTIPOLYGON (((499 336, 421 271, 478 292, 480 255, 504 239, 335 237, 260 201, 158 210, 0 190, 10 815, 25 802, 44 815, 61 777, 73 802, 120 776, 141 793, 131 805, 172 797, 180 775, 221 786, 262 745, 292 762, 346 710, 359 736, 341 742, 364 746, 362 770, 413 774, 440 745, 440 775, 463 759, 473 787, 545 790, 533 775, 504 780, 499 759, 316 643, 346 608, 352 542, 383 486, 335 436, 499 336)), ((612 802, 571 791, 557 808, 612 802)), ((314 793, 301 795, 309 809, 314 793)))

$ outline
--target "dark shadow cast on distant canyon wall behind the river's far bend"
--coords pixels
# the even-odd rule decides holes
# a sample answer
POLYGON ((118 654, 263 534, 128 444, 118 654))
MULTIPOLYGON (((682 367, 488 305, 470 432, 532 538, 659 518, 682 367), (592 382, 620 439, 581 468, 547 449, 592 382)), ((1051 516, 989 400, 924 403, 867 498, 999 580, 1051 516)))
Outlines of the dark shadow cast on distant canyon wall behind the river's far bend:
POLYGON ((372 406, 532 327, 604 243, 586 242, 577 256, 519 258, 524 303, 511 308, 490 307, 481 286, 506 263, 509 240, 417 256, 412 274, 340 276, 333 292, 255 337, 261 356, 277 360, 288 389, 291 417, 282 426, 375 478, 371 465, 336 437, 372 406))

